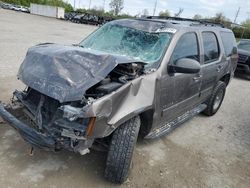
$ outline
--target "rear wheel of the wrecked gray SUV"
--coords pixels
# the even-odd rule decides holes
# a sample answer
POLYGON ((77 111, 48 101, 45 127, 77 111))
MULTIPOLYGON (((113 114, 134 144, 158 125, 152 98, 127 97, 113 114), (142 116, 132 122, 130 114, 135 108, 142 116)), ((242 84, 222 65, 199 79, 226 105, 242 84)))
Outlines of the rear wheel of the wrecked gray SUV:
POLYGON ((207 116, 213 116, 220 109, 220 106, 223 102, 225 93, 226 93, 226 84, 225 82, 219 81, 214 91, 208 101, 206 102, 207 108, 203 113, 207 116), (220 96, 220 101, 218 102, 218 96, 220 96), (216 105, 216 106, 215 106, 216 105))

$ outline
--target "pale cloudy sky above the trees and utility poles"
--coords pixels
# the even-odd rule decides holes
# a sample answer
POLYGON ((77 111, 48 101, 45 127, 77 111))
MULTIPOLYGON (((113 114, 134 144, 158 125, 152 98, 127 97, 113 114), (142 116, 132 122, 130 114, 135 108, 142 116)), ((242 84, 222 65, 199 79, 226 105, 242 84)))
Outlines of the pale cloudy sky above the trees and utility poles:
MULTIPOLYGON (((74 6, 74 0, 65 0, 74 6)), ((105 11, 109 10, 110 0, 91 0, 91 7, 103 7, 105 1, 105 11)), ((156 0, 124 0, 123 13, 136 15, 143 9, 148 9, 149 14, 153 14, 156 0)), ((75 0, 76 8, 88 8, 90 0, 75 0)), ((173 15, 183 8, 182 17, 193 17, 195 14, 202 16, 213 16, 217 12, 223 12, 232 21, 237 9, 241 7, 237 22, 250 18, 250 0, 158 0, 156 13, 168 9, 173 15)))

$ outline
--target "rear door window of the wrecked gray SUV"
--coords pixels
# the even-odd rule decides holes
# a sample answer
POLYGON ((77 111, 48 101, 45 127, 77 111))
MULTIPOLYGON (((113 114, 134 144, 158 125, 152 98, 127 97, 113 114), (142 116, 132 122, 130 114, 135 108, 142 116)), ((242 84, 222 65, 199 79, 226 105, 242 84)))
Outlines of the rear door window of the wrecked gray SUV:
POLYGON ((218 40, 214 33, 203 32, 204 61, 210 63, 219 58, 218 40))

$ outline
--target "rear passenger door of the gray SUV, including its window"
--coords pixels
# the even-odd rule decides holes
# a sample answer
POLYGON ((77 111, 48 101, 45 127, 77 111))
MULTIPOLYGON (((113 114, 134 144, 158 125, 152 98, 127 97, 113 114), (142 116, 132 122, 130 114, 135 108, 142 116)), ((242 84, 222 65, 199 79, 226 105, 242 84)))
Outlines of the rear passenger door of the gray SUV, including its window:
POLYGON ((218 72, 223 69, 220 58, 219 41, 214 32, 205 31, 201 33, 202 38, 202 84, 201 100, 209 97, 216 84, 218 72))

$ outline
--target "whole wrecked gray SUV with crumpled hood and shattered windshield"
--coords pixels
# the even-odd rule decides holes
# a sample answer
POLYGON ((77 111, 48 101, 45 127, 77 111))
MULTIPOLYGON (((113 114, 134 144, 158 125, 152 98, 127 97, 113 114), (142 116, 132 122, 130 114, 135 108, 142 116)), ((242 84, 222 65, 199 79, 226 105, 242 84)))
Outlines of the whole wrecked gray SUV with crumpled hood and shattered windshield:
POLYGON ((124 19, 79 45, 30 48, 0 115, 32 146, 84 155, 106 148, 105 177, 126 180, 140 134, 157 138, 214 115, 234 75, 231 30, 187 19, 124 19))

